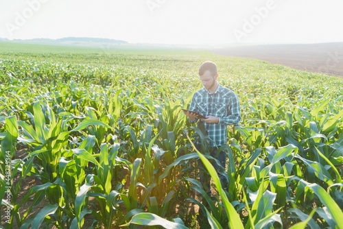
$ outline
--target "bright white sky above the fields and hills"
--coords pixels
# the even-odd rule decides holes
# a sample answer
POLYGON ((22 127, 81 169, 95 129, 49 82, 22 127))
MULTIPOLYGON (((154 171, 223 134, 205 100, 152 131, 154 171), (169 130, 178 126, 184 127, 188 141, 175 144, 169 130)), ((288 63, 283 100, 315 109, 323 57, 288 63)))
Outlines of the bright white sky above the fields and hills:
POLYGON ((222 45, 343 42, 342 0, 0 0, 0 38, 222 45))

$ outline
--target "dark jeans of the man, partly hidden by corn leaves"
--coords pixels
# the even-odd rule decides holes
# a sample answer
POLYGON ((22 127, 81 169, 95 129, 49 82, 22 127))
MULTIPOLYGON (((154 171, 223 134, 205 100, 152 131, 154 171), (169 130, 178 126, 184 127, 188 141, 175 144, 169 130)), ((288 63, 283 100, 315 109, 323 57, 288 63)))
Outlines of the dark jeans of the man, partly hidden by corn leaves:
MULTIPOLYGON (((196 148, 199 152, 201 152, 201 146, 196 145, 196 148)), ((222 188, 227 189, 228 188, 228 180, 226 179, 226 176, 223 176, 219 173, 219 171, 222 171, 222 169, 226 169, 226 150, 222 150, 221 152, 217 152, 218 147, 212 147, 210 149, 210 155, 213 158, 216 158, 219 160, 220 165, 217 164, 214 160, 210 160, 211 164, 215 168, 215 171, 217 171, 217 175, 220 178, 220 182, 222 183, 222 188)), ((204 152, 201 152, 204 154, 204 152)), ((202 163, 202 160, 198 159, 198 166, 200 169, 200 183, 204 187, 204 191, 206 191, 207 194, 211 193, 211 176, 209 175, 209 172, 207 171, 206 167, 202 163)))

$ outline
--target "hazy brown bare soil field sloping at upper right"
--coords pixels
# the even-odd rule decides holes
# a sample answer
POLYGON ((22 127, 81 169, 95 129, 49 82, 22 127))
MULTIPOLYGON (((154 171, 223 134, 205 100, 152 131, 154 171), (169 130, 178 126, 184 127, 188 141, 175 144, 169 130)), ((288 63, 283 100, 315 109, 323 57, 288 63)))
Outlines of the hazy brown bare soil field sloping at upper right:
POLYGON ((213 49, 213 53, 255 58, 294 69, 343 77, 343 43, 242 45, 213 49))

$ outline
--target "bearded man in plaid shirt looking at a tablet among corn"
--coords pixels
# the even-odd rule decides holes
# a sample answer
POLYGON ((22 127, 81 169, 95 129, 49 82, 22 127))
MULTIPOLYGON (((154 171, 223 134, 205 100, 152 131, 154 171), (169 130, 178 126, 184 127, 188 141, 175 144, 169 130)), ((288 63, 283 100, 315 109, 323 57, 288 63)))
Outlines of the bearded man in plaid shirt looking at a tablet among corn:
MULTIPOLYGON (((219 84, 217 81, 217 65, 214 62, 206 61, 201 64, 199 79, 204 87, 194 93, 189 110, 198 112, 206 119, 200 119, 194 112, 184 111, 184 113, 191 123, 198 121, 198 127, 203 128, 204 133, 209 136, 209 148, 204 149, 198 142, 196 143, 197 149, 202 154, 207 152, 219 160, 225 169, 226 151, 217 152, 217 149, 227 145, 227 126, 237 125, 241 120, 239 99, 233 91, 219 84)), ((220 171, 220 166, 217 163, 213 162, 212 165, 216 171, 220 171)), ((201 160, 199 166, 204 168, 201 160)), ((227 188, 226 178, 220 174, 218 176, 224 188, 227 188)), ((200 172, 200 182, 204 186, 206 193, 211 195, 209 175, 200 172)))

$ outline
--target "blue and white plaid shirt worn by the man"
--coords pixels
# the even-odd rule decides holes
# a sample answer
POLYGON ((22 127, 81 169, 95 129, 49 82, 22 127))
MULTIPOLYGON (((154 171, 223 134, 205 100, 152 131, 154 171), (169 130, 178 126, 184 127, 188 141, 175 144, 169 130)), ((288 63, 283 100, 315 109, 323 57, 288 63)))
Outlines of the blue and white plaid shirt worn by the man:
MULTIPOLYGON (((212 115, 220 119, 219 123, 204 122, 210 141, 210 147, 227 144, 227 125, 237 125, 241 121, 241 112, 237 95, 228 88, 219 85, 215 93, 210 94, 205 88, 194 93, 189 110, 203 116, 212 115)), ((196 123, 197 119, 191 121, 196 123)), ((201 120, 200 120, 201 121, 201 120)))

